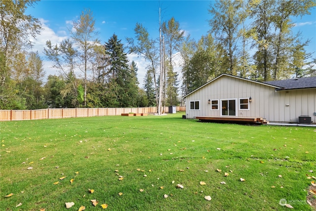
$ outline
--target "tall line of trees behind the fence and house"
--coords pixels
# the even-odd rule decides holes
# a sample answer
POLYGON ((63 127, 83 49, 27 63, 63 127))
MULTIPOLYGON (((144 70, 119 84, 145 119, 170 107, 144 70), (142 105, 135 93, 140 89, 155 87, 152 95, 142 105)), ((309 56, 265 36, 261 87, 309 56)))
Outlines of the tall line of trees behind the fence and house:
POLYGON ((314 0, 217 0, 208 9, 210 30, 198 41, 172 17, 159 26, 162 40, 136 23, 125 46, 115 34, 102 44, 93 12, 83 10, 69 39, 46 42, 45 57, 59 74, 44 79, 30 39, 40 34, 40 21, 25 14, 36 1, 1 1, 0 109, 149 107, 159 99, 179 105, 222 73, 256 81, 316 75, 316 58, 305 49, 310 41, 292 32, 292 18, 310 14, 314 0), (141 88, 130 53, 147 62, 141 88))

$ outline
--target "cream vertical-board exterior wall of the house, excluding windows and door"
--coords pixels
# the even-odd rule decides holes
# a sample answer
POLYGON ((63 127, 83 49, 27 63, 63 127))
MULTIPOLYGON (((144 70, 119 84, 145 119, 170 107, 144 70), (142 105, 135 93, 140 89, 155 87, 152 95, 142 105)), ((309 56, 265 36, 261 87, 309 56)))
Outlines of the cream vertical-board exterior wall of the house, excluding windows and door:
POLYGON ((316 122, 316 88, 276 91, 269 85, 225 75, 187 96, 187 118, 221 116, 221 99, 237 100, 237 117, 262 117, 271 122, 298 122, 299 116, 310 116, 316 122), (249 110, 239 110, 239 99, 249 99, 250 96, 252 102, 249 102, 249 110), (219 100, 219 109, 211 110, 208 99, 219 100), (199 110, 190 110, 190 101, 199 101, 199 110))

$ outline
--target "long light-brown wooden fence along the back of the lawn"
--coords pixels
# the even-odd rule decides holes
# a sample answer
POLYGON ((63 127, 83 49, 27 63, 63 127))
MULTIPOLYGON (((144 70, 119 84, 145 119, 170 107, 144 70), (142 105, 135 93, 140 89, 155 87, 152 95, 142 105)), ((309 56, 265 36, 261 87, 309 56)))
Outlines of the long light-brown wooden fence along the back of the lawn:
MULTIPOLYGON (((177 106, 185 111, 185 106, 177 106)), ((168 113, 168 108, 165 109, 168 113)), ((38 110, 0 110, 0 121, 61 119, 71 117, 120 116, 127 113, 157 113, 157 107, 143 108, 48 108, 38 110)))

